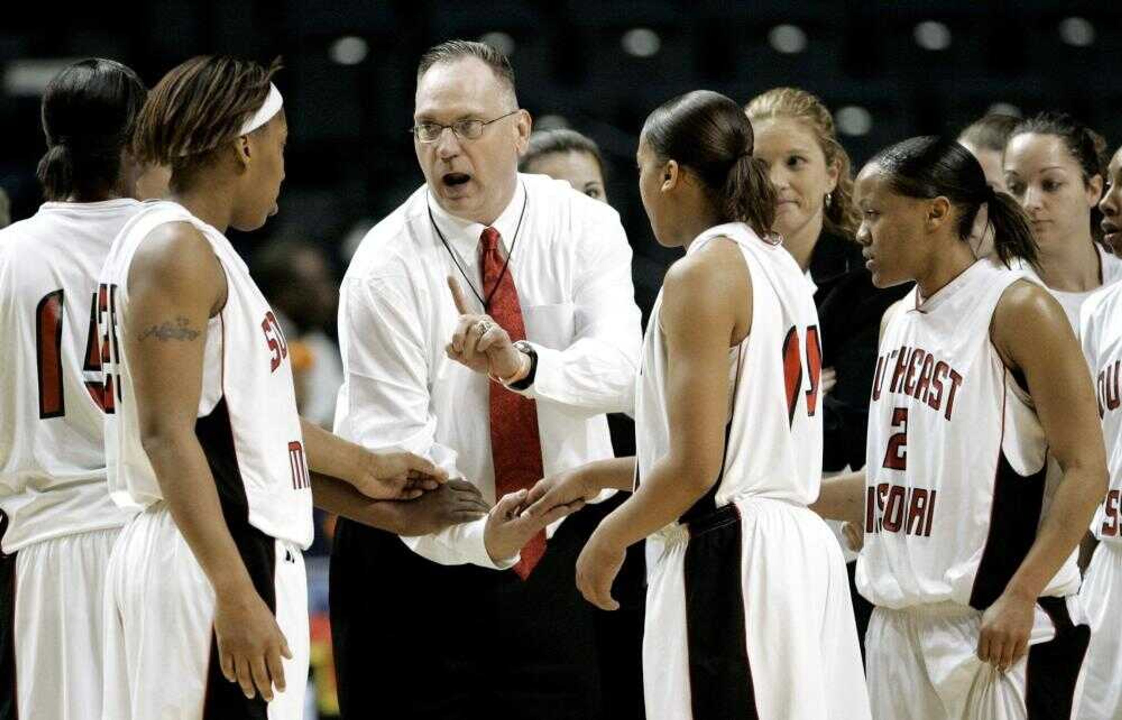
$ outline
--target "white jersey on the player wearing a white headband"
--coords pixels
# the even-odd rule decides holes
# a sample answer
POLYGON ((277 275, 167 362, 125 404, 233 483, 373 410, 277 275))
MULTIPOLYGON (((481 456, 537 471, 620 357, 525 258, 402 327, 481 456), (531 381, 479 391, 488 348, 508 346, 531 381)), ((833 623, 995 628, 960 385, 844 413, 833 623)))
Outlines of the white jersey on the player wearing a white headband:
POLYGON ((107 381, 119 386, 108 416, 109 487, 121 504, 148 506, 163 498, 140 444, 136 395, 125 345, 129 323, 128 274, 137 248, 158 225, 188 222, 199 229, 226 271, 227 299, 206 326, 203 387, 195 435, 206 454, 223 509, 301 547, 312 542, 312 493, 304 455, 292 364, 284 335, 246 264, 226 236, 172 202, 146 202, 113 242, 101 274, 116 307, 107 381))

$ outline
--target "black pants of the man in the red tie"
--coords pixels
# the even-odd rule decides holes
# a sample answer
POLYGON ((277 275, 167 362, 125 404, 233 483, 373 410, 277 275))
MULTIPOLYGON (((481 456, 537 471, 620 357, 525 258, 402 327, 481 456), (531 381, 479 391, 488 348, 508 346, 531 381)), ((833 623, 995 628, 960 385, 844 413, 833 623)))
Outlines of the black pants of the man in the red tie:
POLYGON ((562 523, 525 582, 430 562, 340 519, 331 635, 344 720, 642 718, 642 545, 613 588, 620 610, 596 610, 576 587, 604 505, 562 523))

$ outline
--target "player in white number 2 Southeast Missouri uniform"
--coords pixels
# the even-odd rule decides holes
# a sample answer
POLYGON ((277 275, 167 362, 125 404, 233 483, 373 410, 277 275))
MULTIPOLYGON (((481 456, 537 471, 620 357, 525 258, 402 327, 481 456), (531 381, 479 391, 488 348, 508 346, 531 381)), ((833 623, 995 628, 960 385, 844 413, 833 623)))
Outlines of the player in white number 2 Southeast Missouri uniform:
POLYGON ((985 205, 1000 259, 1031 266, 1029 220, 934 137, 880 153, 856 199, 873 281, 916 280, 885 319, 866 472, 816 504, 861 508, 873 716, 1070 718, 1088 638, 1074 551, 1105 488, 1094 395, 1063 308, 967 242, 985 205))

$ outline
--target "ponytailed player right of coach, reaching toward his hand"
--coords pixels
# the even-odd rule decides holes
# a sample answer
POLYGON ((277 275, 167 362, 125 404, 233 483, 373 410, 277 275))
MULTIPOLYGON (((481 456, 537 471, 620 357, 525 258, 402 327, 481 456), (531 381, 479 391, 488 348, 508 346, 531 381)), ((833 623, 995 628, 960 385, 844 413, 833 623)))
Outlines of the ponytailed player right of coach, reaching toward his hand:
POLYGON ((806 507, 821 462, 813 299, 769 233, 775 191, 752 151, 747 118, 717 93, 647 118, 643 205, 659 242, 686 257, 644 341, 638 456, 543 480, 527 511, 634 479, 577 582, 615 608, 624 551, 650 536, 647 717, 866 718, 842 553, 806 507))

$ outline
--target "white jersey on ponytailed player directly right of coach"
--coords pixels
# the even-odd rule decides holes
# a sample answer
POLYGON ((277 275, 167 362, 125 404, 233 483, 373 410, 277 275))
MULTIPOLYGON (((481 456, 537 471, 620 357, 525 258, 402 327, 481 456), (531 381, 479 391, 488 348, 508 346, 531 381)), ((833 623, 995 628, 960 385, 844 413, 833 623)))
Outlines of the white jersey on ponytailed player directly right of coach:
MULTIPOLYGON (((690 244, 698 252, 712 238, 741 248, 752 278, 752 329, 729 350, 729 419, 721 473, 686 516, 703 514, 744 496, 809 505, 822 469, 822 416, 818 412, 821 339, 810 286, 780 243, 762 240, 744 223, 706 230, 690 244)), ((635 398, 636 484, 670 452, 666 414, 666 343, 654 303, 643 339, 635 398)))

